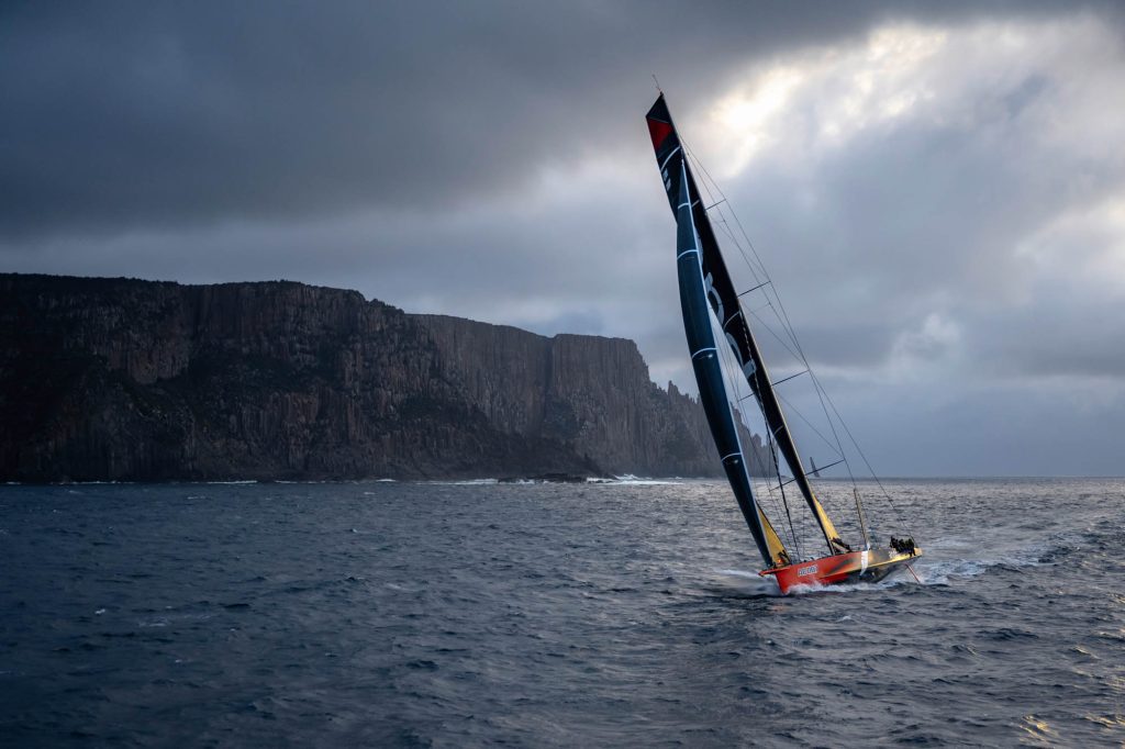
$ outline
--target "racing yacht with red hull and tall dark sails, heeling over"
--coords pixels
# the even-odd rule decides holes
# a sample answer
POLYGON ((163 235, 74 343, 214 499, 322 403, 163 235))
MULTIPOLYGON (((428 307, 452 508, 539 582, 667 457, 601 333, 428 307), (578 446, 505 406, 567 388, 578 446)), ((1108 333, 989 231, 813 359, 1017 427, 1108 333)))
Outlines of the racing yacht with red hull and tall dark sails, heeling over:
MULTIPOLYGON (((857 488, 853 491, 863 542, 853 548, 840 536, 803 468, 796 443, 785 419, 785 410, 770 379, 760 349, 750 330, 749 318, 741 306, 741 296, 749 291, 740 295, 735 290, 708 215, 709 209, 703 204, 663 93, 649 109, 647 120, 660 178, 672 213, 676 217, 680 304, 695 381, 699 385, 700 401, 706 413, 711 435, 719 450, 727 479, 766 565, 759 574, 773 576, 783 594, 796 586, 883 579, 920 556, 921 550, 915 545, 909 534, 903 540, 892 538, 890 545, 885 548, 873 548, 867 538, 863 504, 857 488), (721 349, 717 343, 719 336, 727 344, 721 349), (732 364, 736 370, 729 376, 724 376, 722 367, 727 349, 734 357, 732 364), (741 424, 736 407, 736 403, 742 403, 749 396, 732 398, 727 385, 728 379, 736 385, 745 380, 754 403, 762 412, 774 462, 771 468, 777 477, 777 493, 789 520, 789 547, 774 530, 758 497, 755 496, 747 452, 739 437, 741 424), (792 475, 788 480, 782 478, 782 461, 792 475), (796 485, 808 511, 816 521, 818 534, 824 538, 827 554, 817 557, 800 553, 798 534, 784 493, 788 484, 796 485)), ((768 282, 767 280, 759 286, 768 282)), ((796 350, 801 351, 799 345, 796 350)), ((803 360, 803 353, 801 359, 803 360)), ((811 376, 808 361, 804 361, 804 366, 811 376)), ((838 462, 846 462, 843 448, 840 458, 838 462)), ((816 472, 819 476, 819 471, 826 468, 829 467, 813 468, 809 473, 816 472)))

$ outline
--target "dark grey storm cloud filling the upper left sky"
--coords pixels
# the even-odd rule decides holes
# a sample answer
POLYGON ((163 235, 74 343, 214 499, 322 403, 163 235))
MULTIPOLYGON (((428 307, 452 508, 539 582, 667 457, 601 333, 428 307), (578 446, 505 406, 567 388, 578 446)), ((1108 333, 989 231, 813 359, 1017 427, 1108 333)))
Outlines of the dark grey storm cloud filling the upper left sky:
POLYGON ((515 196, 536 166, 634 141, 650 72, 687 107, 748 57, 1005 8, 8 3, 0 233, 515 196))

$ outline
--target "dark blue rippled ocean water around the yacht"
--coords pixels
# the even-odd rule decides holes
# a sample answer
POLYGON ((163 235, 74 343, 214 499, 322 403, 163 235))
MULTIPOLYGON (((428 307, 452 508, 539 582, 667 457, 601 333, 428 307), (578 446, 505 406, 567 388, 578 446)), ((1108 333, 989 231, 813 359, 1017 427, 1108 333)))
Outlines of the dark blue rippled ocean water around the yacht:
POLYGON ((3 487, 0 743, 1123 746, 1125 481, 886 488, 780 597, 718 482, 3 487))

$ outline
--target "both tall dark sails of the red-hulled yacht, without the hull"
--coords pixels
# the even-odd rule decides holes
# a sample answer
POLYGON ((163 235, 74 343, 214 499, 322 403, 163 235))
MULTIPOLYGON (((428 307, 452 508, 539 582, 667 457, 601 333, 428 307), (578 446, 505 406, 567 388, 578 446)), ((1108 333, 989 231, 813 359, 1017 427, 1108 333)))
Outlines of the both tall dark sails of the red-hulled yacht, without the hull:
POLYGON ((663 93, 649 109, 646 118, 660 178, 664 180, 668 204, 678 227, 676 253, 680 298, 684 330, 700 388, 700 400, 706 412, 716 446, 722 457, 727 478, 730 480, 738 506, 746 516, 750 533, 767 565, 788 562, 789 556, 784 545, 757 506, 750 489, 745 453, 738 442, 732 407, 722 379, 719 351, 708 316, 709 308, 714 314, 727 344, 762 408, 766 427, 824 533, 829 551, 831 553, 845 551, 848 547, 840 540, 836 527, 809 485, 796 444, 785 422, 785 414, 771 385, 762 352, 750 332, 738 294, 727 271, 727 264, 719 251, 706 207, 700 198, 663 93))

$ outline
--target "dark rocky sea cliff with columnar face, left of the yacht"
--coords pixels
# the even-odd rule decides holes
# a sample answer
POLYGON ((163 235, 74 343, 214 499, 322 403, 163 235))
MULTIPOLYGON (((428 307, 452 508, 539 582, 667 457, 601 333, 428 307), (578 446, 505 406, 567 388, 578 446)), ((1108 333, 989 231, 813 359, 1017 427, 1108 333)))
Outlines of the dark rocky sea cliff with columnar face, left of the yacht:
POLYGON ((291 282, 0 274, 0 480, 714 475, 636 344, 291 282))

